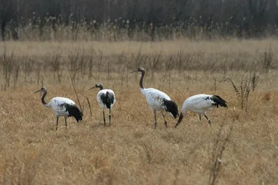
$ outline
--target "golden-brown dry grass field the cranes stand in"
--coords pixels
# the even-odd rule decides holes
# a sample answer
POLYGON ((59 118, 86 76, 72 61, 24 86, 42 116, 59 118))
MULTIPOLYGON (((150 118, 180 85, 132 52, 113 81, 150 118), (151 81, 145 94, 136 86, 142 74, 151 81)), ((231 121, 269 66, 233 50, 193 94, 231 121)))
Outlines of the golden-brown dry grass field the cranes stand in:
POLYGON ((278 184, 277 51, 273 40, 1 42, 0 182, 278 184), (158 114, 154 129, 140 75, 129 74, 139 66, 145 87, 167 93, 179 111, 199 93, 220 95, 229 108, 208 112, 211 126, 189 113, 177 129, 158 114), (65 129, 60 118, 55 131, 54 114, 33 92, 43 85, 47 102, 78 103, 71 78, 83 121, 69 118, 65 129), (111 127, 97 89, 88 90, 98 82, 116 95, 111 127))

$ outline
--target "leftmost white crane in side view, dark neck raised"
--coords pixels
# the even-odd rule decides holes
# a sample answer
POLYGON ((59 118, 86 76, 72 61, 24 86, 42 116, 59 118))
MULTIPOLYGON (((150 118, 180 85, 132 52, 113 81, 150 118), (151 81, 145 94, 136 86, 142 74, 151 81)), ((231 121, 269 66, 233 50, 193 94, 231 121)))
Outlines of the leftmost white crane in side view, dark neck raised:
POLYGON ((58 129, 58 120, 59 117, 65 118, 65 127, 67 128, 67 117, 73 116, 77 122, 82 120, 83 113, 79 107, 66 97, 54 97, 47 104, 44 100, 44 97, 47 95, 47 88, 42 87, 40 90, 35 91, 35 93, 41 92, 42 104, 46 107, 49 107, 54 111, 56 115, 56 130, 58 129))

